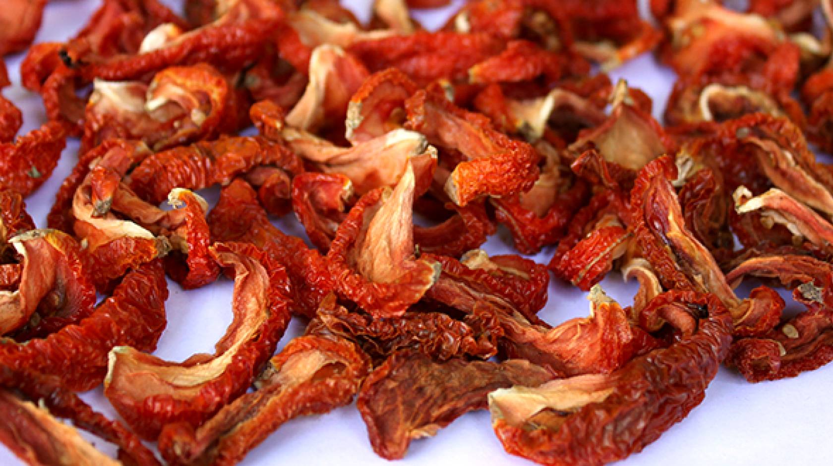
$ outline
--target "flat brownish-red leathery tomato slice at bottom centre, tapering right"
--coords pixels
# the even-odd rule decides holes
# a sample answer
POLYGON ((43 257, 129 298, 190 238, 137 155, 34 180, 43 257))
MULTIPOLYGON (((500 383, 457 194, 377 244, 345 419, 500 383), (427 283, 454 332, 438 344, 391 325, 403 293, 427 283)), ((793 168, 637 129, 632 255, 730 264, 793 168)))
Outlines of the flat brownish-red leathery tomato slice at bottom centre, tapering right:
POLYGON ((545 369, 521 359, 435 363, 403 350, 367 376, 356 404, 373 451, 384 459, 402 459, 412 439, 434 435, 462 414, 486 408, 492 390, 549 379, 545 369))

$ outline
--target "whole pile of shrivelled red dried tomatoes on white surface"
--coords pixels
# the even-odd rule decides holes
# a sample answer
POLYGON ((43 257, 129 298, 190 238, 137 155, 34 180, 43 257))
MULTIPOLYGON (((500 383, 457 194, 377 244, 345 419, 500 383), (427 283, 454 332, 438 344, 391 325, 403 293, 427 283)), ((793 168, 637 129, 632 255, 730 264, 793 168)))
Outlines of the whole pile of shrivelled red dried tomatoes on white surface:
POLYGON ((808 146, 833 150, 827 0, 653 0, 659 27, 636 0, 473 0, 437 32, 408 8, 446 0, 377 0, 368 26, 335 0, 184 18, 103 0, 30 47, 46 2, 0 11, 49 120, 13 141, 0 98, 0 441, 30 464, 115 464, 56 417, 124 464, 158 464, 140 439, 234 464, 354 397, 386 459, 487 407, 511 454, 602 464, 686 417, 721 363, 758 382, 833 359, 833 166, 808 146), (666 126, 591 72, 653 49, 680 76, 666 126), (77 165, 37 229, 23 199, 67 137, 77 165), (287 215, 313 247, 273 226, 287 215), (478 249, 498 226, 550 263, 478 249), (596 285, 611 270, 633 305, 596 285), (551 273, 590 291, 589 317, 536 317, 551 273), (166 275, 221 274, 216 353, 150 354, 166 275), (747 277, 766 285, 744 298, 747 277), (773 287, 806 310, 783 316, 773 287), (275 354, 292 316, 306 333, 275 354), (99 384, 121 421, 77 397, 99 384))

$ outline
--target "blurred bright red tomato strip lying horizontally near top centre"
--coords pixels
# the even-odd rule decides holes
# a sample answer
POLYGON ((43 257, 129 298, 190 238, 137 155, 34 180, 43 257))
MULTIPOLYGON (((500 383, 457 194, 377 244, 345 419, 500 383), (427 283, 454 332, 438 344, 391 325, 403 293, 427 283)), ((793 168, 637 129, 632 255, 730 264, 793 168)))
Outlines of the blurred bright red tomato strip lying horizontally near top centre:
POLYGON ((469 68, 504 48, 497 37, 482 32, 416 32, 409 36, 367 38, 347 48, 372 72, 395 67, 417 84, 439 78, 460 80, 469 68))

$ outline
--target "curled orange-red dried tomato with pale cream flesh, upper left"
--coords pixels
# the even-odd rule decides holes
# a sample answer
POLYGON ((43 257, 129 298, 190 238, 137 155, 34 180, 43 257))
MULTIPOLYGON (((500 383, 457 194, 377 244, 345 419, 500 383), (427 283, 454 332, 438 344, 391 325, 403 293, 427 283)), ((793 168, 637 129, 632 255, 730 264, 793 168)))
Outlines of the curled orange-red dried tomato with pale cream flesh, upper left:
POLYGON ((97 80, 87 103, 82 152, 110 138, 154 151, 237 130, 237 94, 213 67, 170 67, 152 82, 97 80))

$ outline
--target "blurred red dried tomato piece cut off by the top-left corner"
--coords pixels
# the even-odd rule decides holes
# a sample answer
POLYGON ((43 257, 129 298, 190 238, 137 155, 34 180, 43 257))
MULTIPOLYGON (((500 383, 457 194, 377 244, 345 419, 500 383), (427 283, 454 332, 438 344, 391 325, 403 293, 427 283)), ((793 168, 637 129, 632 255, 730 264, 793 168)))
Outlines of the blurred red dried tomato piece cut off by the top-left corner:
POLYGON ((35 40, 47 0, 8 0, 0 12, 0 57, 21 52, 35 40))

